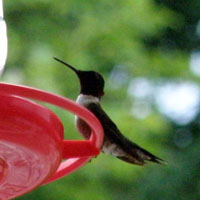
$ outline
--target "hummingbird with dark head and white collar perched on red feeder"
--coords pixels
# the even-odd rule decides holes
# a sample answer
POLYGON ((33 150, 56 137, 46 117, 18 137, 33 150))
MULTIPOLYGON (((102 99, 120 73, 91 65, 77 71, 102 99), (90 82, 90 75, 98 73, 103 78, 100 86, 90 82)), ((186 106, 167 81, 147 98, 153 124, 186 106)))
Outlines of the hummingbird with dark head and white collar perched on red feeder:
MULTIPOLYGON (((104 130, 104 141, 101 147, 103 153, 110 154, 122 161, 136 165, 144 165, 146 161, 162 164, 163 160, 161 158, 154 156, 126 138, 103 110, 100 101, 104 95, 105 81, 101 74, 96 71, 78 70, 58 58, 54 57, 54 59, 66 65, 78 76, 80 81, 80 94, 76 99, 76 103, 87 108, 100 121, 104 130)), ((83 137, 89 139, 91 129, 86 122, 78 116, 75 116, 75 124, 77 130, 83 137)))

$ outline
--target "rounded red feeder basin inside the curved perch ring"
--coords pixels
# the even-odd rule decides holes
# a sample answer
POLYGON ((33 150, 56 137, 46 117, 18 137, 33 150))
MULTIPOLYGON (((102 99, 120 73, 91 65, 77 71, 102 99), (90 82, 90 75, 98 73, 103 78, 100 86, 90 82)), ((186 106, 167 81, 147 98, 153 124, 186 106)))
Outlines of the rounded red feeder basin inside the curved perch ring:
POLYGON ((56 171, 62 135, 60 120, 46 108, 0 95, 0 199, 26 193, 56 171))

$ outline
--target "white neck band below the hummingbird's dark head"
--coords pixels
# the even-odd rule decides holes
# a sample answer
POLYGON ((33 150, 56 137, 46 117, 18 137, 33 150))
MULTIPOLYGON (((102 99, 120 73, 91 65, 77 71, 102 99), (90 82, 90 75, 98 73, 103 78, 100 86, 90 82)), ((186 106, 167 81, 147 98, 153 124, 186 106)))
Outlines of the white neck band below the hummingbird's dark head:
POLYGON ((86 94, 79 94, 76 103, 82 105, 82 106, 87 106, 90 103, 99 103, 100 98, 92 96, 92 95, 86 95, 86 94))

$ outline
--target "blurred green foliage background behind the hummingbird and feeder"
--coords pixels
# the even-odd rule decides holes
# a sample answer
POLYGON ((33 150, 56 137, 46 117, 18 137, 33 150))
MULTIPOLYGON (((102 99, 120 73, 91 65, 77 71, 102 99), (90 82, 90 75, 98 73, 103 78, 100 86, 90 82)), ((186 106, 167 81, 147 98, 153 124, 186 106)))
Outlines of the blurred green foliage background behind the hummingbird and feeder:
MULTIPOLYGON (((137 77, 199 84, 188 63, 190 53, 200 47, 195 35, 200 1, 17 0, 4 1, 4 12, 9 52, 2 81, 75 100, 79 93, 76 76, 52 57, 79 69, 96 70, 106 80, 102 105, 121 131, 168 162, 167 166, 138 167, 100 155, 70 176, 19 200, 200 198, 199 115, 181 126, 154 106, 147 118, 137 119, 129 111, 134 100, 127 93, 131 80, 137 77), (128 76, 113 88, 110 76, 119 65, 128 76), (173 140, 180 128, 193 135, 192 143, 185 148, 173 140)), ((73 116, 52 109, 65 126, 65 137, 80 138, 73 116)))

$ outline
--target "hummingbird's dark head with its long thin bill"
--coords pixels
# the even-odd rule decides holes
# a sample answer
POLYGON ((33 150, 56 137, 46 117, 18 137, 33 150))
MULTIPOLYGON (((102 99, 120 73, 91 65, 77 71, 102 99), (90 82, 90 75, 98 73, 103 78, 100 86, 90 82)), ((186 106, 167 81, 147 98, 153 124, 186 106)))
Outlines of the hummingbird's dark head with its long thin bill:
POLYGON ((76 75, 79 78, 80 85, 81 85, 81 94, 85 95, 92 95, 98 98, 101 98, 101 96, 104 95, 104 79, 101 74, 95 71, 83 71, 83 70, 78 70, 71 65, 67 64, 66 62, 54 58, 56 61, 66 65, 69 67, 72 71, 76 73, 76 75))

